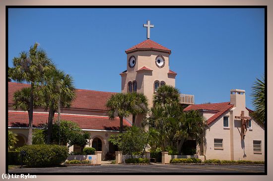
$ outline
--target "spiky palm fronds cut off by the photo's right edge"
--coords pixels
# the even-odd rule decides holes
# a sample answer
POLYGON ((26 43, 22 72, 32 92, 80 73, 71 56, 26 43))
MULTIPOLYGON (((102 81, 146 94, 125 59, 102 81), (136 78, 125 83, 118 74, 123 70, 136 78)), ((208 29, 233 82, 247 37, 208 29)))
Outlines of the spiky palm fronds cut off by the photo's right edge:
POLYGON ((255 111, 251 113, 254 120, 265 124, 265 75, 262 80, 258 79, 252 86, 252 104, 254 105, 255 111))

